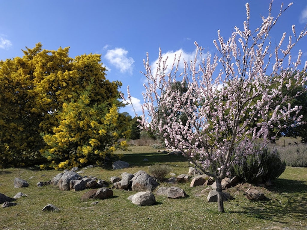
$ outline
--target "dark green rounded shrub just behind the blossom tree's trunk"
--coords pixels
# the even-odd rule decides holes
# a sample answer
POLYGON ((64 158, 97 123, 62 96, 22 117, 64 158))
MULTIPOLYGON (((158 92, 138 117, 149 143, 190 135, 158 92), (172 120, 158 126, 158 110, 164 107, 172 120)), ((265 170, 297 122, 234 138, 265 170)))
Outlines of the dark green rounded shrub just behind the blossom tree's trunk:
POLYGON ((278 178, 285 169, 286 162, 280 159, 277 149, 264 148, 235 160, 230 172, 244 182, 261 182, 278 178))

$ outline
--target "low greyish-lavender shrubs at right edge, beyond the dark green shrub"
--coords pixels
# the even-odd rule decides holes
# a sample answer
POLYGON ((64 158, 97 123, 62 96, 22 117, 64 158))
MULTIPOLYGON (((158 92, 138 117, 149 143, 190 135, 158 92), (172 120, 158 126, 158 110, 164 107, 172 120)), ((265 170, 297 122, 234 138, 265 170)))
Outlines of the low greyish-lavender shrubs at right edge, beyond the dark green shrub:
POLYGON ((307 167, 307 145, 297 144, 287 147, 277 147, 280 158, 286 161, 287 166, 307 167))

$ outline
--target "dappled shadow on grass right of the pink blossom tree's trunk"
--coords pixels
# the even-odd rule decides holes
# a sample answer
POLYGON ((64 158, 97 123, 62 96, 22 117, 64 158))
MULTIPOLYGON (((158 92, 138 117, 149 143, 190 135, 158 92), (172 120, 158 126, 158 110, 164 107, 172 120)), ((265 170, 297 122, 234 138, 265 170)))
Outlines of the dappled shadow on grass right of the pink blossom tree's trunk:
POLYGON ((268 187, 267 189, 280 194, 282 197, 266 199, 264 201, 250 201, 247 205, 243 205, 245 211, 230 213, 241 213, 263 220, 278 221, 283 224, 287 224, 291 218, 306 222, 306 182, 276 179, 274 180, 274 186, 268 187), (285 217, 289 218, 287 219, 285 217))

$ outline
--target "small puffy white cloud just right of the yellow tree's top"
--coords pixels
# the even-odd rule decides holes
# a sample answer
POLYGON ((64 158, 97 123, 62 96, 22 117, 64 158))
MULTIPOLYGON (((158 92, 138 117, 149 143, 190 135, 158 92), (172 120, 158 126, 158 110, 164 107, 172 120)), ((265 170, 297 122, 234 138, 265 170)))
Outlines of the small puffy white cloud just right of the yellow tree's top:
POLYGON ((132 74, 134 59, 127 57, 127 54, 127 50, 115 48, 108 50, 104 57, 122 73, 128 72, 132 74))

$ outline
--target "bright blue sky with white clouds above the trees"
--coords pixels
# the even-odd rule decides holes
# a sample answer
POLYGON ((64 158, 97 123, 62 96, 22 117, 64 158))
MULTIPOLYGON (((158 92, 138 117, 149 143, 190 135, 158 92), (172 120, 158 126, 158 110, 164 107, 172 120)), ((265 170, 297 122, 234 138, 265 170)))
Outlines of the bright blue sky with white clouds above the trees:
MULTIPOLYGON (((293 1, 293 0, 292 0, 293 1)), ((243 0, 0 0, 0 60, 22 56, 25 46, 33 48, 41 42, 43 48, 56 50, 69 46, 71 57, 98 53, 107 67, 107 79, 122 82, 122 91, 130 85, 135 108, 144 90, 143 59, 149 52, 154 63, 159 47, 170 57, 181 51, 185 59, 193 56, 197 41, 208 52, 216 53, 213 39, 217 30, 228 38, 235 26, 243 28, 246 20, 243 0)), ((269 0, 250 0, 251 29, 267 16, 269 0)), ((291 1, 275 0, 273 16, 280 4, 291 1)), ((282 33, 297 33, 307 23, 307 1, 295 0, 279 19, 271 33, 278 43, 282 33)), ((303 51, 307 59, 307 38, 294 51, 303 51)), ((295 57, 296 52, 292 52, 295 57)), ((122 109, 132 115, 129 107, 122 109)))

